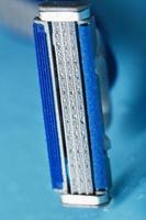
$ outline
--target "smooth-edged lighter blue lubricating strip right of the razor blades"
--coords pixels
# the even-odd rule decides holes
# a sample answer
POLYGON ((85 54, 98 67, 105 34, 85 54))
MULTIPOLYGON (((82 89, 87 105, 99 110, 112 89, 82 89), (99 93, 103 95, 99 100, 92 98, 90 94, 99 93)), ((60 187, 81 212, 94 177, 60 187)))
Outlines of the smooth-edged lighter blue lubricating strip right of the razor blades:
POLYGON ((103 122, 100 88, 94 66, 92 24, 79 25, 79 42, 86 88, 94 187, 96 189, 104 189, 108 187, 108 183, 103 150, 103 122))

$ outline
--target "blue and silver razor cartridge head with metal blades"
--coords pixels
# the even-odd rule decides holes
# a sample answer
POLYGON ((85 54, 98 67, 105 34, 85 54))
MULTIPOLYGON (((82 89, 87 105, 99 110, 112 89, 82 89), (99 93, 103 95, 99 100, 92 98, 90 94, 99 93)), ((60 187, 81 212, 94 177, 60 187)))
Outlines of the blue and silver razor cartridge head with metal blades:
POLYGON ((43 3, 33 26, 53 189, 67 206, 106 204, 109 141, 90 7, 43 3))

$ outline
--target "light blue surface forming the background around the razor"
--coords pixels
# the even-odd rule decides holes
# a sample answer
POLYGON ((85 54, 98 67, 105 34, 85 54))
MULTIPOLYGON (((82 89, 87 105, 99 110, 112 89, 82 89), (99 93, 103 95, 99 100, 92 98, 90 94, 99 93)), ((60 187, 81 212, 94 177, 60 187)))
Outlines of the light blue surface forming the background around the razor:
POLYGON ((0 219, 146 219, 146 2, 104 0, 94 10, 117 63, 109 136, 114 198, 64 208, 52 191, 33 42, 0 28, 0 219))

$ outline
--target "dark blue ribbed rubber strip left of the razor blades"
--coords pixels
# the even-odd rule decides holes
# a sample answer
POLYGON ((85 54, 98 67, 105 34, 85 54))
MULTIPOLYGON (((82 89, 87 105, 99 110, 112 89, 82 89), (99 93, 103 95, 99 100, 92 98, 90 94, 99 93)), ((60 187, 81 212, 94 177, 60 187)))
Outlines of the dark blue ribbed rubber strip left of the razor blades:
POLYGON ((61 189, 61 163, 46 34, 42 24, 34 23, 33 26, 52 183, 53 188, 61 189))

